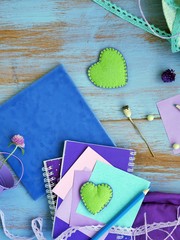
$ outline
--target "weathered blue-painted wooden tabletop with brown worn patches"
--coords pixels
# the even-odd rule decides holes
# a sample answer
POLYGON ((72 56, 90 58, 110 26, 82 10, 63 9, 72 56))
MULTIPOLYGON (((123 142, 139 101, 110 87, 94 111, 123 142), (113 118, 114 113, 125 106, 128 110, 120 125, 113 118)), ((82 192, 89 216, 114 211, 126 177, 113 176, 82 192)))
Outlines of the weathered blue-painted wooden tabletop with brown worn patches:
MULTIPOLYGON (((136 1, 117 1, 139 15, 136 1)), ((150 21, 165 28, 161 1, 143 7, 150 21)), ((85 99, 119 147, 138 151, 135 174, 152 181, 152 190, 180 192, 180 157, 172 155, 156 102, 180 93, 180 54, 172 54, 167 41, 143 32, 106 12, 91 0, 6 0, 0 6, 0 103, 26 87, 57 63, 63 63, 85 99), (128 66, 128 84, 119 89, 96 88, 87 78, 88 66, 99 51, 114 47, 128 66), (160 75, 173 68, 174 83, 160 75), (153 159, 120 108, 128 104, 147 138, 153 159), (156 120, 147 122, 147 114, 156 120)), ((52 222, 46 197, 33 201, 20 185, 0 196, 8 229, 31 236, 32 218, 44 219, 43 230, 51 239, 52 222)), ((0 239, 6 239, 0 229, 0 239)))

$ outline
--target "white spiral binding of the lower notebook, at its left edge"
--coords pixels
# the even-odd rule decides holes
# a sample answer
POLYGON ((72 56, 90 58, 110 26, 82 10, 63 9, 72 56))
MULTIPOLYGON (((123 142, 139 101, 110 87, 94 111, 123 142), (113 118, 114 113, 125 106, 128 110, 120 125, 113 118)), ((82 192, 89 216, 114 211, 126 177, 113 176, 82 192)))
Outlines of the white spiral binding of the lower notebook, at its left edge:
POLYGON ((51 190, 55 186, 55 183, 53 182, 55 178, 51 177, 53 176, 54 173, 51 170, 52 170, 51 166, 42 168, 50 214, 53 220, 56 209, 57 196, 51 190))

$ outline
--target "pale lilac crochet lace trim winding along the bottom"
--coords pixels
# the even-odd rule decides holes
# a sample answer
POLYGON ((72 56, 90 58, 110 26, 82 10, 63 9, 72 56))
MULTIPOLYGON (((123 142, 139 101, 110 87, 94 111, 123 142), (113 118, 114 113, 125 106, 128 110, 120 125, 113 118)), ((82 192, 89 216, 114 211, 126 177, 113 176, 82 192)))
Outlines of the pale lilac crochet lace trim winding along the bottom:
MULTIPOLYGON (((144 214, 144 225, 138 227, 138 228, 122 228, 122 227, 112 227, 109 230, 109 233, 113 234, 118 234, 117 236, 118 239, 125 239, 125 236, 130 236, 132 240, 136 240, 137 236, 140 235, 145 235, 146 240, 153 240, 152 238, 149 237, 148 233, 156 230, 156 231, 163 231, 164 233, 167 234, 167 236, 164 238, 164 240, 167 240, 168 238, 171 238, 171 240, 175 240, 172 236, 172 234, 175 232, 177 227, 180 225, 180 206, 177 208, 177 220, 173 222, 160 222, 160 223, 153 223, 153 224, 147 224, 147 217, 146 213, 144 214), (166 228, 173 227, 171 232, 169 233, 166 231, 166 228), (119 238, 120 237, 120 238, 119 238)), ((31 222, 31 227, 34 232, 33 237, 27 238, 27 237, 20 237, 13 235, 10 233, 5 225, 5 219, 4 219, 4 213, 0 210, 0 219, 2 221, 2 227, 3 231, 6 237, 12 240, 33 240, 33 239, 38 239, 38 240, 46 240, 46 238, 43 235, 42 232, 42 226, 43 226, 43 219, 38 217, 32 220, 31 222)), ((84 226, 84 227, 71 227, 68 228, 66 231, 64 231, 56 240, 67 240, 69 237, 73 235, 76 231, 82 231, 82 230, 90 230, 93 232, 99 231, 103 225, 97 225, 97 226, 84 226)), ((154 239, 155 240, 155 239, 154 239)), ((157 240, 157 239, 156 239, 157 240)))

